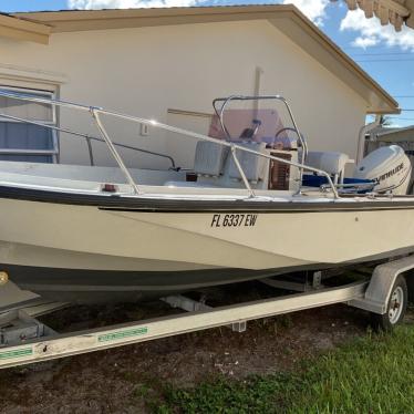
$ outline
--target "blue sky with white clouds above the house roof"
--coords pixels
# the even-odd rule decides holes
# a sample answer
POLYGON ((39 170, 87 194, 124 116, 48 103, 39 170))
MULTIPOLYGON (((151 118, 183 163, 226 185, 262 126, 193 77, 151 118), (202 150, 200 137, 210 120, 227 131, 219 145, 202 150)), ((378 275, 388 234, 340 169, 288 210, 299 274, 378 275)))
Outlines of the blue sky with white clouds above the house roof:
POLYGON ((343 0, 0 0, 1 12, 62 9, 293 3, 377 81, 404 110, 393 126, 414 124, 414 30, 397 33, 343 0))

